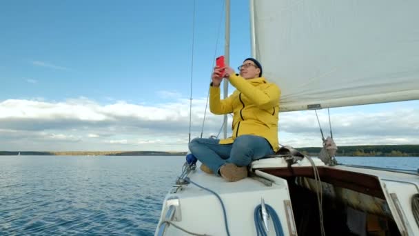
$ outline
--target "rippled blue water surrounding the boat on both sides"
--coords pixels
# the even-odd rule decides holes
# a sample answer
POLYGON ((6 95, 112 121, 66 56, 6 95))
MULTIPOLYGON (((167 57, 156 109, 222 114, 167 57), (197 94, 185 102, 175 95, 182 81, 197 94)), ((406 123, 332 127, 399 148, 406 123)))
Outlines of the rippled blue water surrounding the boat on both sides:
MULTIPOLYGON (((338 157, 417 170, 419 157, 338 157)), ((184 157, 0 156, 0 235, 154 235, 184 157)))

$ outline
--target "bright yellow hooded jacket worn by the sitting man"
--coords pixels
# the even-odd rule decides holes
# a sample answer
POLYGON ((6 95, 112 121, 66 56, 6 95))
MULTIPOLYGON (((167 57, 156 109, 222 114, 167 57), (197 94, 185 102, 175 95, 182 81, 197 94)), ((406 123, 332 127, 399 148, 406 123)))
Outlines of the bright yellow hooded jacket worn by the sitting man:
POLYGON ((233 136, 221 139, 220 144, 232 144, 240 135, 265 137, 276 152, 278 147, 278 112, 280 89, 264 77, 244 79, 230 75, 236 88, 232 95, 220 99, 220 88, 210 88, 210 110, 216 115, 233 112, 233 136))

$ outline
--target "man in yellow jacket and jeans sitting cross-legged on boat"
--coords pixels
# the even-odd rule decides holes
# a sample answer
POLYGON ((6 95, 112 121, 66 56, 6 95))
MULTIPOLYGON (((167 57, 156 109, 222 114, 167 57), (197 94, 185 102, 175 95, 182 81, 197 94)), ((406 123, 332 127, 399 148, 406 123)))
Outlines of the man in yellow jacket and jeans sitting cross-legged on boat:
POLYGON ((216 115, 233 112, 232 137, 227 139, 193 139, 189 148, 203 164, 205 173, 216 173, 227 181, 247 177, 251 161, 274 154, 278 148, 278 112, 280 89, 262 77, 262 66, 247 58, 238 67, 215 67, 210 84, 210 110, 216 115), (223 70, 225 71, 222 75, 223 70), (236 88, 232 95, 220 99, 220 83, 228 79, 236 88))

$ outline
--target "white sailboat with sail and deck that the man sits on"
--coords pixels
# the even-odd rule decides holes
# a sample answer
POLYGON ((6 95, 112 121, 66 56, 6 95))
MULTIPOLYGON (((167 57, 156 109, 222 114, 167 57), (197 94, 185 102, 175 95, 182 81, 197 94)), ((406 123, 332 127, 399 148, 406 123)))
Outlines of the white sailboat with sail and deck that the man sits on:
MULTIPOLYGON (((281 88, 281 111, 416 100, 418 9, 250 0, 252 56, 281 88)), ((254 176, 234 183, 184 168, 155 235, 419 235, 417 173, 325 162, 291 150, 254 161, 254 176)))

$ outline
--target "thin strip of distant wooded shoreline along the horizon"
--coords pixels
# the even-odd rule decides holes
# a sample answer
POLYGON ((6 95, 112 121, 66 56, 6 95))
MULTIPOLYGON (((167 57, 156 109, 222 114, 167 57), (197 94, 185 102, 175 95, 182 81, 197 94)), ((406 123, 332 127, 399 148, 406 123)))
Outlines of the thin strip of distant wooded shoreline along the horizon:
MULTIPOLYGON (((301 153, 317 156, 319 147, 296 148, 301 153)), ((184 156, 187 152, 162 151, 0 151, 1 155, 54 155, 54 156, 184 156)), ((336 157, 419 157, 419 145, 364 145, 340 146, 336 157)))

